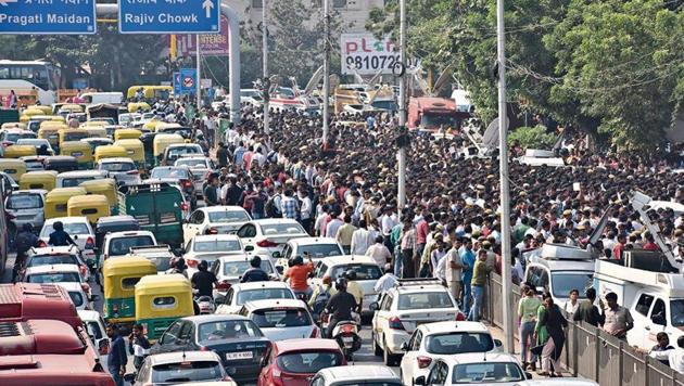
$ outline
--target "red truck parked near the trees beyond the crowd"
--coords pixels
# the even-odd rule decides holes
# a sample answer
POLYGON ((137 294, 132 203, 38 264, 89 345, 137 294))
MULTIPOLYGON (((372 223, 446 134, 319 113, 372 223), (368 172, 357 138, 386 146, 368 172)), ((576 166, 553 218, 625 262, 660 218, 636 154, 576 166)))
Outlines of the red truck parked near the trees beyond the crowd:
POLYGON ((408 102, 407 126, 411 130, 459 128, 461 121, 468 117, 470 113, 457 111, 453 99, 417 97, 408 102))

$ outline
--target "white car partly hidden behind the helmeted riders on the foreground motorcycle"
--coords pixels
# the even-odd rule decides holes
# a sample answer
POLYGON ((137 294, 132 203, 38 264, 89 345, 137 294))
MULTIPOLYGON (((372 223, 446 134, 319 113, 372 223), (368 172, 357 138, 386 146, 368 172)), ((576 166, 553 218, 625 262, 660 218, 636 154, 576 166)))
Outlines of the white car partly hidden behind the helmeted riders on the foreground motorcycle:
POLYGON ((382 271, 370 256, 333 256, 318 260, 314 270, 314 278, 309 280, 309 285, 315 288, 322 286, 322 279, 330 276, 334 282, 342 273, 353 270, 356 272, 355 282, 364 290, 364 300, 362 312, 371 314, 370 305, 378 299, 375 286, 378 279, 382 276, 382 271))

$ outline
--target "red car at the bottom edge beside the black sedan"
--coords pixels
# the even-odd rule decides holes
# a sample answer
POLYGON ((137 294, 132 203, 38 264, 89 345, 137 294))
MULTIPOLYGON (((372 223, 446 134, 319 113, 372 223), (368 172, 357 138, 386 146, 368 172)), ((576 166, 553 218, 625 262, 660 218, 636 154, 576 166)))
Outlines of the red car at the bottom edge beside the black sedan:
POLYGON ((274 342, 257 386, 308 386, 319 370, 345 364, 340 346, 332 339, 274 342))

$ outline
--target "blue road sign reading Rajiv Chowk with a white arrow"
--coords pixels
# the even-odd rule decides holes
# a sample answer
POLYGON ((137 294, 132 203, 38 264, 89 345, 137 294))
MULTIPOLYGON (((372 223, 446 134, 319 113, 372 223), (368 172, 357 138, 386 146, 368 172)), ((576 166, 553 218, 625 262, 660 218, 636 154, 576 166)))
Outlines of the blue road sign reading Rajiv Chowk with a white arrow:
POLYGON ((220 30, 219 0, 118 0, 118 30, 122 34, 212 34, 220 30))

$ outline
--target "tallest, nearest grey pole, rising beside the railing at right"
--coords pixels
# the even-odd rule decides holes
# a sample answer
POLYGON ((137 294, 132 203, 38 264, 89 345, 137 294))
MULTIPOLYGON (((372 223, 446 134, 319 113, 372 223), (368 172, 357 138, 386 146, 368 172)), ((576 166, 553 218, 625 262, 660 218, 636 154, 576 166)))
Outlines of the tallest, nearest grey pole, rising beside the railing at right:
POLYGON ((514 352, 512 283, 510 278, 510 192, 508 188, 508 147, 506 144, 506 51, 504 33, 504 0, 496 0, 496 49, 498 61, 498 162, 502 207, 502 299, 504 299, 504 349, 514 352))

